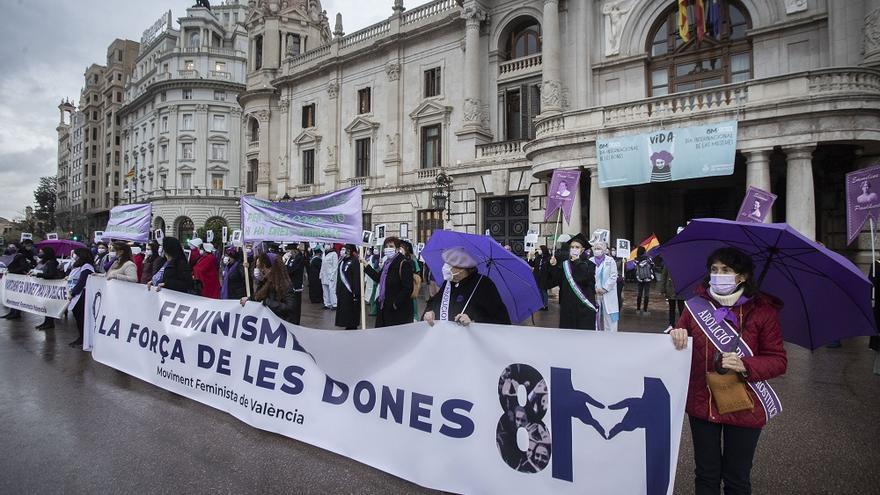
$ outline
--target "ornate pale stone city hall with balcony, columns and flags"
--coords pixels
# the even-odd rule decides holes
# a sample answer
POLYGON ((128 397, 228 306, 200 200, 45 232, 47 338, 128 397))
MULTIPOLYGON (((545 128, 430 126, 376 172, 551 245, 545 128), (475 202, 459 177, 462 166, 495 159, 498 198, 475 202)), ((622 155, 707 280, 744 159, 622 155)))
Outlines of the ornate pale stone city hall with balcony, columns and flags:
POLYGON ((248 193, 362 186, 367 227, 488 230, 521 252, 553 234, 552 172, 578 169, 564 232, 662 242, 756 186, 774 221, 866 247, 846 246, 843 180, 880 153, 880 1, 709 0, 687 41, 673 0, 397 0, 348 34, 318 0, 250 4, 248 193), (732 175, 599 187, 597 140, 731 120, 732 175))

